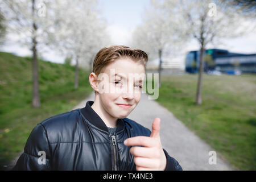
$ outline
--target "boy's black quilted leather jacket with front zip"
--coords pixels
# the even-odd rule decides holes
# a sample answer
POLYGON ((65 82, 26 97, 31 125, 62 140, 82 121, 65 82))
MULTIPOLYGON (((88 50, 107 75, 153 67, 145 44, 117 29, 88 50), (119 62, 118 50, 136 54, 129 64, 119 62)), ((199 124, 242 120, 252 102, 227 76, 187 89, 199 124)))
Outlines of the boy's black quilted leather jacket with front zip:
MULTIPOLYGON (((47 118, 34 127, 14 170, 136 170, 123 141, 151 131, 137 122, 118 119, 113 135, 99 115, 86 106, 47 118)), ((166 170, 182 170, 168 155, 166 170)))

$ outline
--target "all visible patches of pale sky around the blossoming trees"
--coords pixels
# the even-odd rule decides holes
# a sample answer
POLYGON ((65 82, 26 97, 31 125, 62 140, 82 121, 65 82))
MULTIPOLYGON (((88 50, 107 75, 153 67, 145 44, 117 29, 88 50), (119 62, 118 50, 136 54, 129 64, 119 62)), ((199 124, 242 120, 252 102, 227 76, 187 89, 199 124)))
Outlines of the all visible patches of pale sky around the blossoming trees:
MULTIPOLYGON (((131 39, 131 33, 142 23, 142 14, 144 9, 150 6, 150 0, 100 0, 100 10, 102 16, 108 23, 107 32, 109 32, 112 44, 126 45, 131 39)), ((18 37, 8 35, 6 46, 1 47, 1 51, 13 52, 19 56, 31 55, 29 48, 20 46, 15 42, 18 37)), ((223 39, 223 44, 217 47, 228 49, 230 52, 256 53, 256 32, 236 39, 223 39)), ((184 51, 194 51, 199 49, 199 45, 192 40, 184 47, 184 51)), ((63 63, 65 57, 54 51, 43 52, 42 56, 48 61, 63 63)))

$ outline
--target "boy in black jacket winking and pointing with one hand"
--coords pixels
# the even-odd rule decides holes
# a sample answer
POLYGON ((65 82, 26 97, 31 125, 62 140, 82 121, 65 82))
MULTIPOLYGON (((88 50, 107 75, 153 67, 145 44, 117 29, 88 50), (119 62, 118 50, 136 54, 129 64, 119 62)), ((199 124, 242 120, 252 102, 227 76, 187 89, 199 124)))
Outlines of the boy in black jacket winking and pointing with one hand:
POLYGON ((102 48, 89 76, 95 100, 39 123, 14 169, 182 170, 162 148, 159 118, 152 133, 126 118, 141 98, 147 59, 139 49, 102 48))

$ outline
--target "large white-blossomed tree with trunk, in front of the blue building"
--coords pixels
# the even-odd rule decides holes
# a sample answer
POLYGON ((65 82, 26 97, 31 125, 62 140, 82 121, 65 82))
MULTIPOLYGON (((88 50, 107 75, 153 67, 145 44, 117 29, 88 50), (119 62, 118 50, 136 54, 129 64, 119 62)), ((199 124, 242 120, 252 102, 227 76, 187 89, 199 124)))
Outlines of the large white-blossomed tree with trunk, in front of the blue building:
POLYGON ((196 104, 201 105, 201 84, 204 72, 205 47, 220 43, 221 38, 231 38, 244 35, 253 30, 251 24, 246 25, 246 19, 239 11, 235 11, 227 3, 215 0, 164 1, 162 10, 179 10, 179 15, 185 19, 185 31, 191 38, 197 40, 200 46, 200 68, 197 81, 196 104), (242 25, 242 26, 241 26, 242 25))

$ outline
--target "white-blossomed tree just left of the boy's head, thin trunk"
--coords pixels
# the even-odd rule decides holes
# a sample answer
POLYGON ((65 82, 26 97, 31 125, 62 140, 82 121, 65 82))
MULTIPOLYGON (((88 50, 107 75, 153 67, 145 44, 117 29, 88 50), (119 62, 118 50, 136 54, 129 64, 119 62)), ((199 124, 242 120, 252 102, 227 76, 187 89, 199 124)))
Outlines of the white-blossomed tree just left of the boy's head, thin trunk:
POLYGON ((55 1, 55 27, 51 30, 49 44, 60 52, 73 55, 75 66, 75 88, 79 86, 79 64, 92 60, 98 49, 109 42, 105 22, 100 18, 97 1, 55 1))

